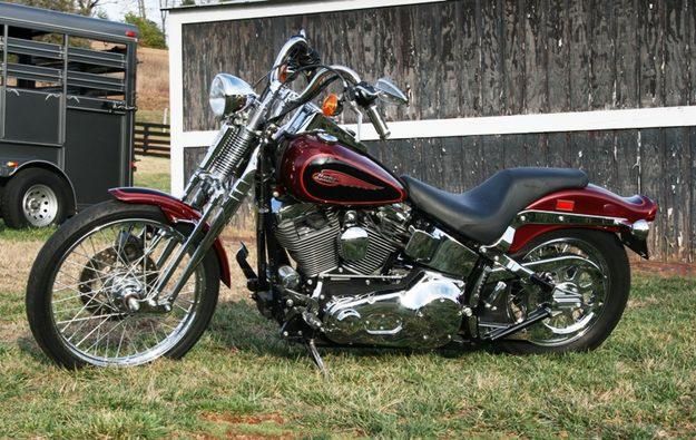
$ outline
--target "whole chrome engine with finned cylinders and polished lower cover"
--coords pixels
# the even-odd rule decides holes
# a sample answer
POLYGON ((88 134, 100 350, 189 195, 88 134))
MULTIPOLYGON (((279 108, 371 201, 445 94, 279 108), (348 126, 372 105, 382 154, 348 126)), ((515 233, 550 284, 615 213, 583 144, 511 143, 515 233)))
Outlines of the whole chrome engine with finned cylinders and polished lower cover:
POLYGON ((326 339, 432 349, 460 331, 462 280, 476 254, 438 229, 409 231, 410 223, 405 205, 337 211, 288 204, 276 211, 277 241, 304 280, 318 277, 312 291, 326 339), (398 252, 438 272, 390 267, 398 252))

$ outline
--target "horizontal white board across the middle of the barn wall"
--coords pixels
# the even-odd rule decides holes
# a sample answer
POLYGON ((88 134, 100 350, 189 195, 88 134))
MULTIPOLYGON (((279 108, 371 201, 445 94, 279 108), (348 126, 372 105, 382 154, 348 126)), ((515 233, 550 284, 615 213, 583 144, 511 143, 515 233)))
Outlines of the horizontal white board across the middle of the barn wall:
MULTIPOLYGON (((696 106, 408 120, 388 124, 392 131, 390 139, 683 127, 696 126, 696 106)), ((355 125, 346 127, 355 130, 355 125)), ((363 123, 362 130, 363 140, 379 139, 370 123, 363 123)), ((207 146, 216 134, 216 130, 185 131, 182 133, 177 144, 184 147, 207 146)))

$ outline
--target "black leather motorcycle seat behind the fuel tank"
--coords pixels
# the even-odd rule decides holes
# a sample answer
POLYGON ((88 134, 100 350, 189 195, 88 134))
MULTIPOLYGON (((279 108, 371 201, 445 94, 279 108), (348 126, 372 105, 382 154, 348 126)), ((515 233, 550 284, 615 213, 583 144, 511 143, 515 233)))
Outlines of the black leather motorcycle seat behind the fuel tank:
POLYGON ((433 219, 481 244, 492 244, 517 213, 547 194, 584 188, 587 175, 567 168, 510 168, 463 194, 452 194, 402 176, 411 202, 433 219))

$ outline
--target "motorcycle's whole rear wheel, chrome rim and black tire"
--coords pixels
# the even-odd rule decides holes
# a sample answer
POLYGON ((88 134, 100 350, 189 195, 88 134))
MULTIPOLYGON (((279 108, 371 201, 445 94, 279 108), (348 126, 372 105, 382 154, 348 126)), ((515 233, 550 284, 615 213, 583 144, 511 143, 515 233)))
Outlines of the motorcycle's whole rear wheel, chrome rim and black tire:
MULTIPOLYGON (((543 272, 557 285, 577 292, 576 306, 552 306, 552 316, 502 341, 517 354, 587 351, 599 346, 618 324, 630 290, 630 267, 615 234, 561 229, 545 234, 521 250, 523 263, 552 258, 543 272)), ((541 303, 538 287, 516 283, 507 290, 504 309, 511 322, 522 321, 541 303)))

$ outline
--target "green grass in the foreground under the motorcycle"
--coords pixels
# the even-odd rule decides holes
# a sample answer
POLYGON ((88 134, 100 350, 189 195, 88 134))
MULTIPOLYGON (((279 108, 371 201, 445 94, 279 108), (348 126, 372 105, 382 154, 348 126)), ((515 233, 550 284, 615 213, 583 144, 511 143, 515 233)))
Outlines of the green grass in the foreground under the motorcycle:
POLYGON ((38 350, 21 292, 0 294, 0 437, 692 437, 696 283, 634 282, 598 351, 511 356, 304 351, 223 301, 183 361, 65 371, 38 350))

